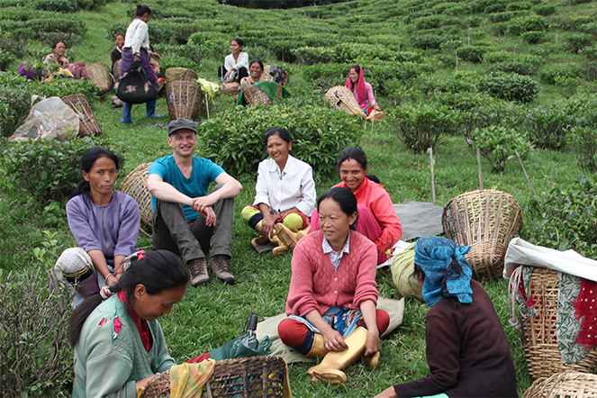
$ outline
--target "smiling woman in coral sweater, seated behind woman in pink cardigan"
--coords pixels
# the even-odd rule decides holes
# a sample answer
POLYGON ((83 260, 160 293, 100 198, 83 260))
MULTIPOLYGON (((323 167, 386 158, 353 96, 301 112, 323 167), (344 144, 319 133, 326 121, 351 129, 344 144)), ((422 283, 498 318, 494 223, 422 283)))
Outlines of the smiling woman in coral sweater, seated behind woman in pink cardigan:
MULTIPOLYGON (((366 176, 367 160, 363 149, 348 147, 340 152, 338 171, 342 182, 338 185, 348 188, 357 197, 357 231, 375 243, 377 264, 387 259, 386 251, 403 237, 403 226, 393 209, 392 199, 384 186, 366 176)), ((317 220, 317 210, 312 213, 312 221, 317 220)), ((317 222, 312 222, 312 231, 317 231, 317 222)))

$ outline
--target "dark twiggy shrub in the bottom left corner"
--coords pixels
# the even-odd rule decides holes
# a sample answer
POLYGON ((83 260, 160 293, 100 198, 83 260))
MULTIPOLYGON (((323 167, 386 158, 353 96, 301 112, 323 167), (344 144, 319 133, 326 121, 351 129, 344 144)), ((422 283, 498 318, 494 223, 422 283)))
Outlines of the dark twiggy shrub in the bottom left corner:
POLYGON ((72 384, 70 290, 46 269, 11 272, 0 282, 0 383, 5 396, 60 396, 72 384))

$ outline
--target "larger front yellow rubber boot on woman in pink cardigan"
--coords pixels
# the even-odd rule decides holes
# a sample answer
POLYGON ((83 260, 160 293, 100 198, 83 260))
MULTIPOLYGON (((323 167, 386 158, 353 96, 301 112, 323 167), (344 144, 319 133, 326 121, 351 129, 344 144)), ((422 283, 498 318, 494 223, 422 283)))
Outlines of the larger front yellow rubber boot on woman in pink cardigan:
POLYGON ((348 379, 342 369, 346 369, 363 355, 367 333, 368 331, 365 328, 359 326, 344 339, 348 346, 347 349, 344 351, 330 351, 328 355, 321 359, 318 366, 313 366, 307 371, 307 375, 324 383, 334 385, 346 383, 348 379))

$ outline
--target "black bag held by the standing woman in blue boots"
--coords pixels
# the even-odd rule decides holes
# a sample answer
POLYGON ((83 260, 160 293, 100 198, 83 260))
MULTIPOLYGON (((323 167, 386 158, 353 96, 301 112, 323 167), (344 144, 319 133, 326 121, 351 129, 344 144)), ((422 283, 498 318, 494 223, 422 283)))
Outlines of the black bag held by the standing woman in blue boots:
POLYGON ((131 64, 124 75, 114 83, 114 94, 125 103, 145 104, 158 98, 159 89, 149 82, 140 60, 131 64))

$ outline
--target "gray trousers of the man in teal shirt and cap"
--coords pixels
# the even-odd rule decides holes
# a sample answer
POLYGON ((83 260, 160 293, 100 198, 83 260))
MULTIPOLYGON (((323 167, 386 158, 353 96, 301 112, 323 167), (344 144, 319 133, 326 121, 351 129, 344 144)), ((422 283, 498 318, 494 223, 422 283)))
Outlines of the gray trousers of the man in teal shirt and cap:
MULTIPOLYGON (((215 185, 213 191, 222 184, 215 185)), ((205 225, 201 214, 194 220, 185 219, 182 204, 156 200, 153 211, 153 249, 166 249, 180 254, 185 262, 195 258, 232 255, 232 216, 234 198, 222 199, 213 204, 215 225, 205 225)))

